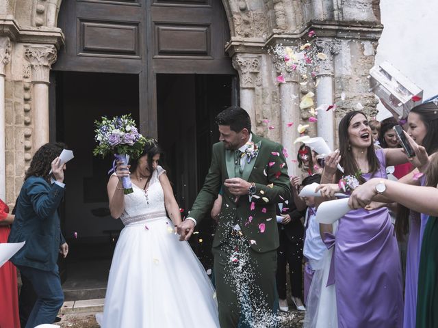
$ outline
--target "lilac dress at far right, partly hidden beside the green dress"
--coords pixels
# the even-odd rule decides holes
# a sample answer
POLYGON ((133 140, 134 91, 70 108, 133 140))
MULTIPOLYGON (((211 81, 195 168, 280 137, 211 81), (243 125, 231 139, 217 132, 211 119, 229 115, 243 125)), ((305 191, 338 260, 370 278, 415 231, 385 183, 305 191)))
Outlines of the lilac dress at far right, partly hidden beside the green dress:
MULTIPOLYGON (((421 185, 424 186, 426 176, 422 176, 420 182, 421 185)), ((422 248, 423 233, 427 219, 428 215, 420 214, 411 210, 411 215, 409 217, 406 280, 404 282, 404 328, 415 327, 420 250, 422 248)))

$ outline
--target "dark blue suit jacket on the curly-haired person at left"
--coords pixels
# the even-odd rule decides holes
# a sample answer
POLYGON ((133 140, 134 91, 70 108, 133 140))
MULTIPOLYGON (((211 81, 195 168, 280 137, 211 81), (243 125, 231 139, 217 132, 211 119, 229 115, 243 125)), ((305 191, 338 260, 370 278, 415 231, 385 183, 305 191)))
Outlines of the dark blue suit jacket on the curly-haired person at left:
POLYGON ((12 263, 44 271, 55 269, 60 245, 65 243, 57 213, 63 196, 64 188, 55 183, 36 176, 25 180, 8 242, 26 243, 12 257, 12 263))

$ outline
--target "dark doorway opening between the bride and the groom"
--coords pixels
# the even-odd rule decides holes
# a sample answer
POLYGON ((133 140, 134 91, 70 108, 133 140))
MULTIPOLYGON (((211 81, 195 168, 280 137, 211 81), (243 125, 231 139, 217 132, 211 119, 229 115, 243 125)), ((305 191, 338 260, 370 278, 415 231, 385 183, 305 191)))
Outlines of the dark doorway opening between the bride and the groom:
MULTIPOLYGON (((158 141, 166 151, 168 176, 183 215, 203 186, 218 141, 216 115, 237 104, 236 78, 221 74, 157 74, 158 141)), ((215 224, 205 218, 190 243, 206 269, 211 268, 215 224)))

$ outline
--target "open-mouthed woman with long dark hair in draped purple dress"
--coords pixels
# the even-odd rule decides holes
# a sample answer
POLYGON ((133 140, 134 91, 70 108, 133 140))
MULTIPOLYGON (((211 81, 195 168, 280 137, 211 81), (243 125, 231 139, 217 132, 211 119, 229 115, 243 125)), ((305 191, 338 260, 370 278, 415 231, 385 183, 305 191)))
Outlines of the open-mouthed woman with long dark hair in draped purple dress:
MULTIPOLYGON (((321 182, 342 178, 337 163, 344 167, 344 176, 357 176, 363 183, 385 179, 385 167, 406 162, 400 148, 374 150, 368 119, 352 111, 339 123, 339 151, 326 157, 321 182)), ((326 185, 322 193, 329 194, 330 188, 337 185, 326 185)), ((350 210, 339 219, 333 261, 339 328, 402 327, 402 271, 386 207, 350 210)))

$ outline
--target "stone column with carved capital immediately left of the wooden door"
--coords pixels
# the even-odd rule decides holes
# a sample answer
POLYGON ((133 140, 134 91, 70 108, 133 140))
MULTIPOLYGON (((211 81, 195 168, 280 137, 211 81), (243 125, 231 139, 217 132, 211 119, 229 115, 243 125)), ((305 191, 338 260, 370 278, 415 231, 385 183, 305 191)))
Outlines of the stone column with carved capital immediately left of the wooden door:
POLYGON ((34 109, 34 150, 49 142, 49 73, 56 61, 55 46, 26 46, 25 59, 32 71, 34 109))

